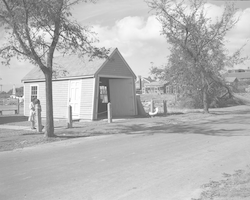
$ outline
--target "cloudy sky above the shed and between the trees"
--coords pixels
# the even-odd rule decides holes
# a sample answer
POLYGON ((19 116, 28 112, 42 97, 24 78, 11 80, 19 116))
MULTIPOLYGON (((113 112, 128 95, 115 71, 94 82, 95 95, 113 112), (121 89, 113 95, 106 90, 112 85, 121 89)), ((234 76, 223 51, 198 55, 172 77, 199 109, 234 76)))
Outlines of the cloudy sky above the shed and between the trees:
MULTIPOLYGON (((240 20, 227 34, 226 47, 233 53, 250 39, 250 1, 233 1, 240 20)), ((216 17, 222 13, 225 1, 209 1, 207 15, 216 17)), ((117 47, 136 75, 148 77, 149 68, 167 63, 169 45, 160 35, 161 25, 144 0, 99 0, 97 3, 81 3, 72 8, 73 17, 81 25, 89 25, 98 35, 97 46, 117 47)), ((0 44, 4 32, 0 29, 0 44)), ((242 56, 250 57, 250 41, 242 56)), ((250 61, 235 68, 250 68, 250 61)), ((17 59, 10 66, 0 63, 0 86, 8 91, 15 84, 22 86, 21 79, 33 68, 30 63, 17 59)), ((0 87, 1 90, 1 87, 0 87)))

